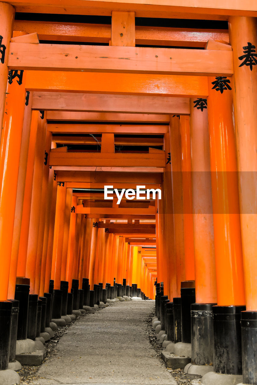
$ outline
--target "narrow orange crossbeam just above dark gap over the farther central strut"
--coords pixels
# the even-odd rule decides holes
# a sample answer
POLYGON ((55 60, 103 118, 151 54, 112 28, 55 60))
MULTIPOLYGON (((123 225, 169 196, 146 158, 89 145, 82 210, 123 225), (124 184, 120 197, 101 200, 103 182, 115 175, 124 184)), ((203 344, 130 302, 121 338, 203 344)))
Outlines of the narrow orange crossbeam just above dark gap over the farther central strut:
MULTIPOLYGON (((137 126, 136 124, 47 124, 47 131, 53 134, 102 134, 113 132, 114 134, 166 134, 169 126, 148 125, 137 126)), ((95 141, 96 143, 96 141, 95 141)))

